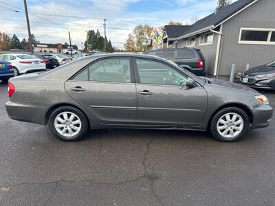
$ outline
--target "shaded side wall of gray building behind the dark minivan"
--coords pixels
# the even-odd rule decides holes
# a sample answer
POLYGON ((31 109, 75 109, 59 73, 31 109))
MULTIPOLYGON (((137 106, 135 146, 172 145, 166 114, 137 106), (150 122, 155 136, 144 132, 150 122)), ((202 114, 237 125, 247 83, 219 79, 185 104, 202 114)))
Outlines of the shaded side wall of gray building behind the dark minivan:
MULTIPOLYGON (((216 60, 216 51, 217 51, 217 42, 218 42, 218 34, 214 34, 213 43, 211 45, 199 45, 199 35, 196 36, 196 45, 190 48, 201 49, 201 53, 206 59, 206 73, 210 76, 214 74, 214 64, 216 60)), ((186 47, 187 39, 181 39, 177 41, 177 48, 186 47)), ((176 41, 171 45, 172 48, 175 48, 176 41)))

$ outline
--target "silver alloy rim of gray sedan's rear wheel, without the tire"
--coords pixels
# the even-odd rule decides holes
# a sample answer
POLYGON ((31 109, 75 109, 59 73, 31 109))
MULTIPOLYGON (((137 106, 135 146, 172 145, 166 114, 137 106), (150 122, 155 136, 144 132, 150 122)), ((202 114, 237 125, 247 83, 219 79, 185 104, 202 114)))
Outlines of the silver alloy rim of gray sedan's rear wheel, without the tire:
POLYGON ((72 112, 63 112, 56 115, 54 128, 64 137, 74 137, 80 133, 82 124, 78 115, 72 112))

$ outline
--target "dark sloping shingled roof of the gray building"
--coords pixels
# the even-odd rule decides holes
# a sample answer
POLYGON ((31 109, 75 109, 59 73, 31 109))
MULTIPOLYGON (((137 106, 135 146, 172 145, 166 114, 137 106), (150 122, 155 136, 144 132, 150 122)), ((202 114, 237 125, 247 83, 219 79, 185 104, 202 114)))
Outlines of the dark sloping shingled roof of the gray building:
POLYGON ((186 27, 186 30, 182 29, 183 31, 181 33, 176 32, 178 30, 177 26, 170 26, 168 30, 174 30, 173 33, 177 35, 174 35, 173 37, 168 36, 168 38, 178 38, 180 36, 192 34, 193 32, 210 27, 212 25, 217 26, 219 23, 225 21, 225 19, 228 19, 228 17, 232 16, 236 12, 239 12, 239 10, 245 8, 245 6, 249 5, 253 1, 256 2, 258 0, 239 0, 231 3, 230 5, 225 6, 225 8, 219 12, 213 12, 212 14, 204 17, 203 19, 200 19, 189 27, 186 27))

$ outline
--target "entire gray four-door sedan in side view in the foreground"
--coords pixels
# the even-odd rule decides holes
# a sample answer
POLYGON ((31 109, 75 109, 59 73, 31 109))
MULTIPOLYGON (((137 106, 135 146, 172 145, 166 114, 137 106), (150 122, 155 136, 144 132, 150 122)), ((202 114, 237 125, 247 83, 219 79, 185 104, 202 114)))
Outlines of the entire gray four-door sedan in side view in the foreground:
POLYGON ((219 141, 236 141, 272 119, 265 95, 155 56, 88 56, 12 78, 8 87, 12 119, 48 125, 65 141, 88 128, 210 130, 219 141))

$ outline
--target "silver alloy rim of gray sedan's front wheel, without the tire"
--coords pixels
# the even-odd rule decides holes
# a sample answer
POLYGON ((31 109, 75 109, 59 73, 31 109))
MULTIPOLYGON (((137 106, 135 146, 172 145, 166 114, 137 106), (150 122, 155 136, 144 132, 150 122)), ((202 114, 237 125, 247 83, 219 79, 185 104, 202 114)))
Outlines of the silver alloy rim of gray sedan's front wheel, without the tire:
POLYGON ((217 122, 217 131, 222 137, 234 138, 243 130, 243 117, 237 113, 226 113, 217 122))

